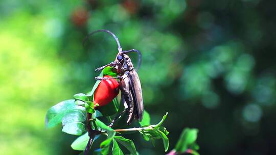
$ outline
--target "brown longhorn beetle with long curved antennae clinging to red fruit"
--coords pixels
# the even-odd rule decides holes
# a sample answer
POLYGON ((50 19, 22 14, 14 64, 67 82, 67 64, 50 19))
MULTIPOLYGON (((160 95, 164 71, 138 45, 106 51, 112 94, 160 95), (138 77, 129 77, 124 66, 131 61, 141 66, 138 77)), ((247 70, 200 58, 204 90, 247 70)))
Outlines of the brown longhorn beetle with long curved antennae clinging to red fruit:
MULTIPOLYGON (((139 54, 139 64, 137 66, 137 70, 139 69, 141 65, 141 53, 139 50, 136 49, 130 49, 130 50, 122 50, 122 47, 120 45, 119 39, 116 35, 114 35, 112 32, 108 30, 97 30, 89 35, 86 36, 85 40, 98 32, 106 32, 113 36, 113 38, 116 40, 118 45, 118 54, 116 56, 116 59, 102 67, 97 68, 95 71, 101 71, 107 66, 113 66, 117 69, 118 76, 116 77, 95 77, 96 80, 107 80, 107 79, 120 79, 120 90, 122 94, 122 102, 124 104, 125 110, 120 114, 121 115, 127 111, 128 112, 128 119, 127 123, 130 124, 133 119, 142 121, 143 119, 143 112, 144 112, 144 105, 143 105, 143 96, 142 96, 142 88, 141 83, 139 80, 139 76, 137 72, 135 71, 133 64, 131 62, 131 59, 127 55, 128 53, 135 52, 139 54)), ((84 41, 85 41, 84 40, 84 41)), ((116 118, 118 119, 118 117, 116 118)), ((109 126, 111 127, 116 120, 114 119, 109 126)))

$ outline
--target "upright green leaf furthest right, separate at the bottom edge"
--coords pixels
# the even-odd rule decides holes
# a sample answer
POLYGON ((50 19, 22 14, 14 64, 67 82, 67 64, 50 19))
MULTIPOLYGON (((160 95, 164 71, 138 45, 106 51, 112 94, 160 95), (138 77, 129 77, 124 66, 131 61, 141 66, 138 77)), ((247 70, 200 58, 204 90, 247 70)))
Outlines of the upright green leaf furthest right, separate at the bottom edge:
POLYGON ((185 152, 189 146, 195 144, 198 130, 196 128, 185 128, 176 143, 175 150, 177 152, 185 152))

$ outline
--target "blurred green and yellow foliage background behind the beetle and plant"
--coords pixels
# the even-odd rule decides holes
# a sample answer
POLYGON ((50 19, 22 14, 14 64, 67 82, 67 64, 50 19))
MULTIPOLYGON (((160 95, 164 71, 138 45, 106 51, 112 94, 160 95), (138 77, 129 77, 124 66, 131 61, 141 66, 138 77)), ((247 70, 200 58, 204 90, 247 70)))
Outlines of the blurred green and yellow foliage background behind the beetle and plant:
MULTIPOLYGON (((139 49, 145 109, 169 112, 171 150, 184 127, 199 129, 201 154, 273 154, 273 1, 0 1, 0 154, 77 154, 61 126, 45 130, 57 102, 91 90, 94 69, 139 49)), ((134 65, 137 56, 131 55, 134 65)), ((139 134, 141 154, 164 154, 139 134)))

